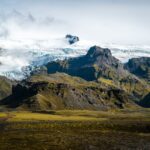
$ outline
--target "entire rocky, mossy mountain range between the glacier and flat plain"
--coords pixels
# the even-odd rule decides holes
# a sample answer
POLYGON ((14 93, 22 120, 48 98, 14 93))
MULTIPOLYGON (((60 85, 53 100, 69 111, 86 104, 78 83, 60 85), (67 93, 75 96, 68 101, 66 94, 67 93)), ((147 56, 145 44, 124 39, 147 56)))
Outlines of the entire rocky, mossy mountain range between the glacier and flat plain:
POLYGON ((122 63, 110 49, 93 46, 85 55, 36 67, 22 81, 1 77, 0 105, 34 111, 150 107, 149 71, 150 57, 122 63))

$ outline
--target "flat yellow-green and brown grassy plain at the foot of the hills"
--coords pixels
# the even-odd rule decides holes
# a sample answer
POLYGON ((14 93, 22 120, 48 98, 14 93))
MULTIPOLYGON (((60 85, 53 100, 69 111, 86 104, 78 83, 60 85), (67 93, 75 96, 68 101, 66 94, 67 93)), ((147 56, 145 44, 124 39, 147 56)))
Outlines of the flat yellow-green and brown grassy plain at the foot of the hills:
POLYGON ((0 150, 149 150, 150 110, 0 112, 0 150))

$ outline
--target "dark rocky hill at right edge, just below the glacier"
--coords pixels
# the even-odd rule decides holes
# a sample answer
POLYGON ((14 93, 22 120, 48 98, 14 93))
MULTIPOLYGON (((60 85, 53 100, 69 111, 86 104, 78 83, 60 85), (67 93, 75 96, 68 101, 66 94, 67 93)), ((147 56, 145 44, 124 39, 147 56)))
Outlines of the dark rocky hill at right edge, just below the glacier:
POLYGON ((150 81, 150 57, 132 58, 125 64, 125 69, 150 81))

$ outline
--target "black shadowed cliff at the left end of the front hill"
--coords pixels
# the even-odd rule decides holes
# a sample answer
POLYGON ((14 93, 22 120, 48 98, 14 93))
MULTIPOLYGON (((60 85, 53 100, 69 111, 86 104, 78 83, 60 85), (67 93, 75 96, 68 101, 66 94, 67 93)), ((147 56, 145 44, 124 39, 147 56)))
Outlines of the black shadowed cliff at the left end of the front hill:
POLYGON ((26 104, 29 108, 36 101, 28 98, 36 95, 40 90, 45 90, 47 82, 37 82, 32 84, 31 82, 19 83, 12 87, 12 94, 1 101, 1 105, 8 105, 10 108, 17 108, 26 104))

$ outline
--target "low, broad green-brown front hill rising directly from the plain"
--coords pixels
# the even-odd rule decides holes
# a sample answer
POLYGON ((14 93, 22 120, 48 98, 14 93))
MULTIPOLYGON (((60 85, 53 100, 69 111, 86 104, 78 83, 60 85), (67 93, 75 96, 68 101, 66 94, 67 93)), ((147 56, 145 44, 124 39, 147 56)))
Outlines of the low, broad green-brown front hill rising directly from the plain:
POLYGON ((87 82, 67 74, 37 75, 13 87, 1 101, 9 108, 25 110, 93 109, 137 107, 135 97, 125 91, 87 82))

